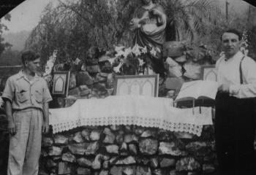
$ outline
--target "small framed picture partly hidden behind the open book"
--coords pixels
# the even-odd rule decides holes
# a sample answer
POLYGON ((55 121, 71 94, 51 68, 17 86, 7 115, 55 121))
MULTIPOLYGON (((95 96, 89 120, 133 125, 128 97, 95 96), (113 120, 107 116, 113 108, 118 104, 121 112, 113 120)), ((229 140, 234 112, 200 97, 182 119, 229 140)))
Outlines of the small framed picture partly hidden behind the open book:
POLYGON ((217 69, 215 68, 215 65, 202 66, 201 79, 217 82, 217 69))

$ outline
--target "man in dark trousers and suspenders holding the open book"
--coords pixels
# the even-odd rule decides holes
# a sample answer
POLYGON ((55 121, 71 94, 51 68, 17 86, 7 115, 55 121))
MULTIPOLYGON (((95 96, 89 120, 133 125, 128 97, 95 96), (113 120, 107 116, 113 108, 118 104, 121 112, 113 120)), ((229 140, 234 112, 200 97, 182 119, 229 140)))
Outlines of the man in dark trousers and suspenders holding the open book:
POLYGON ((224 55, 216 63, 215 136, 222 174, 255 174, 256 63, 240 50, 241 34, 227 30, 221 36, 224 55))

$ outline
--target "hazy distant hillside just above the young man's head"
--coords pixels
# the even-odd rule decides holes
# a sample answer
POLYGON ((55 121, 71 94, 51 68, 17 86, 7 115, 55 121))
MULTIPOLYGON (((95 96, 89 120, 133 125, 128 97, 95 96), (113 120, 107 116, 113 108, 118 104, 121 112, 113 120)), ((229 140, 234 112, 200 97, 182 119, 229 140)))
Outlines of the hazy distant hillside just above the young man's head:
POLYGON ((26 39, 28 39, 31 31, 20 31, 17 33, 3 34, 4 41, 12 44, 12 50, 21 51, 24 48, 26 39))

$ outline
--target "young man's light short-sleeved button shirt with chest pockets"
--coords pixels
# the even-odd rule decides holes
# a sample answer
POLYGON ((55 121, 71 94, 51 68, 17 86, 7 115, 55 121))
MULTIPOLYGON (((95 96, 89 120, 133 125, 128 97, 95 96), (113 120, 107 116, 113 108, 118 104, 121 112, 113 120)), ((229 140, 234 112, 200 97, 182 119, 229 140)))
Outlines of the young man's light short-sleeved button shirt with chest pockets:
POLYGON ((12 102, 12 109, 39 108, 52 100, 45 79, 34 77, 33 82, 26 79, 22 71, 7 79, 2 98, 12 102))

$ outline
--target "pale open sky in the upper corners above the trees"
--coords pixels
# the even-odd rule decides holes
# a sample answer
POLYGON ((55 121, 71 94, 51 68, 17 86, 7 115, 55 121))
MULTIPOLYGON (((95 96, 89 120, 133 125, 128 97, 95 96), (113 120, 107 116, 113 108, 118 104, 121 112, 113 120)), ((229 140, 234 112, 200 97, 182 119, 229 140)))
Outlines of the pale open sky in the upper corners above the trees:
MULTIPOLYGON (((10 12, 11 21, 3 22, 9 28, 9 31, 4 31, 4 34, 7 33, 15 33, 18 31, 30 31, 40 20, 40 15, 42 15, 42 11, 45 6, 49 2, 53 2, 53 5, 59 3, 58 0, 26 0, 23 1, 18 7, 12 9, 10 12)), ((215 0, 213 0, 215 1, 215 0)), ((222 7, 222 11, 225 10, 225 1, 226 0, 218 0, 220 6, 222 7)), ((227 0, 230 2, 230 12, 238 12, 244 13, 246 9, 248 9, 248 4, 242 0, 227 0)))

